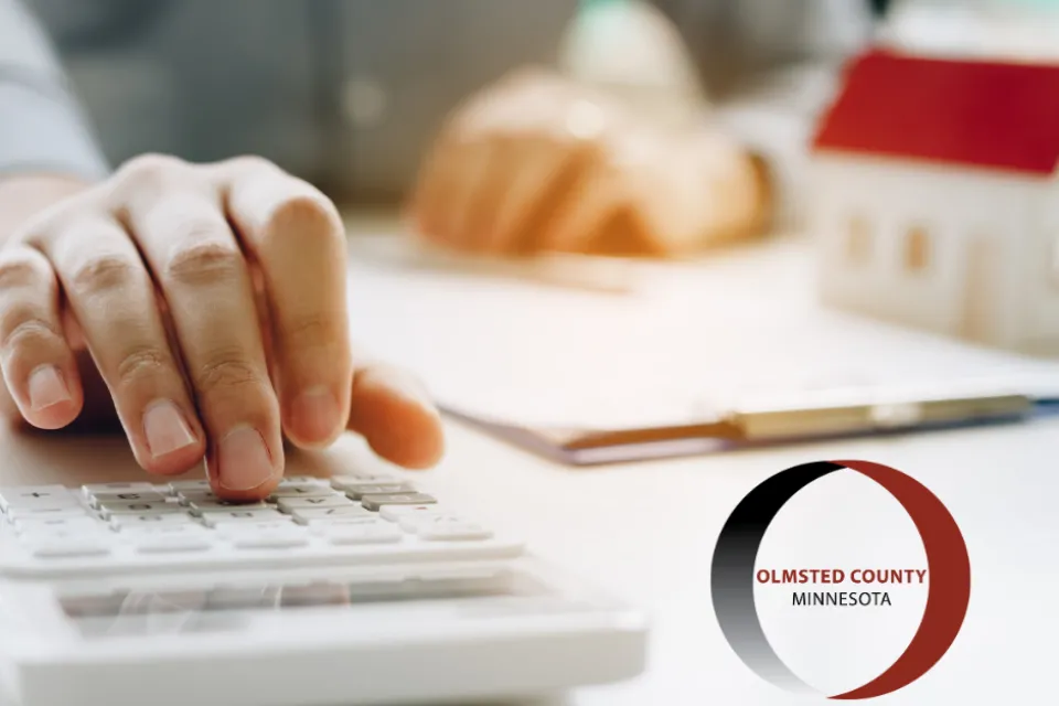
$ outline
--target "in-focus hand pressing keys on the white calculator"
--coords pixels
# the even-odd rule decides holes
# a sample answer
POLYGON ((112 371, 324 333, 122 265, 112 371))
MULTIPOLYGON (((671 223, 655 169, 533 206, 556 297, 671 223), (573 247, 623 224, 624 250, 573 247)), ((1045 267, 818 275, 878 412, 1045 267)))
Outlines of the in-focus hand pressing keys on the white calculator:
POLYGON ((226 498, 275 488, 282 434, 319 447, 349 427, 395 462, 437 460, 440 425, 421 389, 357 363, 338 213, 261 159, 135 159, 23 222, 0 250, 14 414, 57 429, 113 400, 140 466, 173 474, 205 457, 226 498))

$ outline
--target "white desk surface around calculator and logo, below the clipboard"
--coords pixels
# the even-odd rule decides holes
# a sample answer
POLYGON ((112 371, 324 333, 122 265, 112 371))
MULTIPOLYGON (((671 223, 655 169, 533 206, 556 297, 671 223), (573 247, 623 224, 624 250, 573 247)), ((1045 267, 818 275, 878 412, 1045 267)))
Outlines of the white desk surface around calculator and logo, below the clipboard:
MULTIPOLYGON (((400 327, 394 329, 400 331, 400 327)), ((399 333, 395 333, 399 335, 399 333)), ((652 617, 648 672, 559 697, 578 706, 775 704, 725 642, 709 602, 709 558, 739 500, 778 470, 827 458, 901 468, 943 499, 972 557, 963 632, 938 666, 884 704, 1039 704, 1051 694, 1059 629, 1059 420, 929 436, 828 442, 709 458, 570 470, 456 424, 448 454, 418 480, 536 554, 571 567, 652 617)), ((120 439, 0 431, 0 483, 138 478, 120 439)), ((291 472, 373 464, 357 439, 295 453, 291 472)), ((552 702, 548 702, 552 703, 552 702)))

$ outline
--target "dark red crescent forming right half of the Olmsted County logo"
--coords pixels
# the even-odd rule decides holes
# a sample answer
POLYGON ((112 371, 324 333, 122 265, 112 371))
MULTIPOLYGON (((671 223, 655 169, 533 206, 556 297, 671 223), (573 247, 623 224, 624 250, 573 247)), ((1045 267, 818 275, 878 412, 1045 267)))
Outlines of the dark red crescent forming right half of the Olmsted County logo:
POLYGON ((927 608, 912 641, 890 667, 834 699, 874 698, 908 686, 949 651, 971 601, 971 559, 956 521, 926 486, 897 469, 869 461, 832 461, 867 475, 890 492, 916 524, 927 550, 930 588, 927 608))

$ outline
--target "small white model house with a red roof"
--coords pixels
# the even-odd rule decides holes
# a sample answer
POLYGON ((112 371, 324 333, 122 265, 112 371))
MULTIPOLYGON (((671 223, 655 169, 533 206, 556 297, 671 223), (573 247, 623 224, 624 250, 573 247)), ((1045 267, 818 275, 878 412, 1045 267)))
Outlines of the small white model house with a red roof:
POLYGON ((825 302, 1059 354, 1059 64, 871 51, 812 151, 825 302))

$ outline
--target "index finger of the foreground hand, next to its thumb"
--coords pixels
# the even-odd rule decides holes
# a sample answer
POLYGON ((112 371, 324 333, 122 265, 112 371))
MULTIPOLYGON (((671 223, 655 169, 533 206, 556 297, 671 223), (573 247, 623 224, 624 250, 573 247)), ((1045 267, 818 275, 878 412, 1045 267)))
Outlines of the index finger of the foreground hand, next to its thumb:
POLYGON ((353 381, 338 211, 264 160, 220 170, 228 218, 265 284, 284 429, 300 446, 330 443, 349 419, 353 381))

